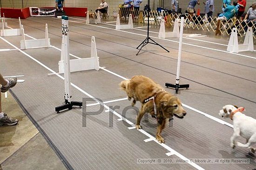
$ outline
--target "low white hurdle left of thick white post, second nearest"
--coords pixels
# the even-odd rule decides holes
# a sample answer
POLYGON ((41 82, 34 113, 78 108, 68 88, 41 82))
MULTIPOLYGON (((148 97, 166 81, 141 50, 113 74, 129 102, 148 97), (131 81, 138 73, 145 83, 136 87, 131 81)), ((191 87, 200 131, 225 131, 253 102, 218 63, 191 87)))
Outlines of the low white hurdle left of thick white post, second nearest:
POLYGON ((48 35, 48 26, 45 24, 45 38, 42 39, 25 39, 24 27, 21 25, 22 40, 20 40, 20 49, 46 48, 50 47, 50 38, 48 35))

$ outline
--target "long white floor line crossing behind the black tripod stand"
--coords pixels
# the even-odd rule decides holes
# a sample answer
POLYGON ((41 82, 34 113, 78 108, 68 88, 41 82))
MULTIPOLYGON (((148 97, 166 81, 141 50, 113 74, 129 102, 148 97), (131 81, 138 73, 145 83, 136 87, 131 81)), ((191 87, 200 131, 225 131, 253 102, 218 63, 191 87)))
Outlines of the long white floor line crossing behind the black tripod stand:
MULTIPOLYGON (((81 23, 81 22, 71 21, 71 20, 69 20, 69 22, 81 23)), ((90 25, 90 24, 85 24, 85 23, 81 23, 81 24, 90 25)), ((109 30, 121 31, 121 32, 126 32, 126 33, 130 33, 130 34, 134 34, 134 35, 140 35, 140 36, 143 36, 143 37, 147 37, 147 35, 138 34, 138 33, 134 33, 134 32, 123 31, 123 30, 116 30, 114 28, 107 28, 107 27, 99 26, 99 25, 91 25, 91 26, 96 26, 96 27, 99 27, 99 28, 105 28, 105 29, 109 29, 109 30)), ((137 29, 137 30, 140 30, 140 29, 137 29)), ((146 31, 146 30, 141 30, 141 31, 146 31)), ((155 32, 155 33, 158 33, 158 32, 155 32)), ((164 39, 164 38, 158 38, 158 37, 151 37, 151 38, 157 38, 157 39, 161 39, 161 40, 165 40, 165 41, 179 43, 179 41, 174 41, 174 40, 170 40, 170 39, 164 39)), ((189 44, 189 43, 182 43, 182 44, 190 45, 190 46, 194 46, 194 47, 200 47, 200 48, 208 49, 208 50, 220 51, 220 52, 224 52, 224 53, 233 54, 233 55, 236 55, 236 56, 242 56, 242 57, 248 57, 248 58, 256 59, 256 57, 251 57, 251 56, 247 56, 247 55, 243 55, 243 54, 238 54, 238 53, 232 53, 232 52, 224 51, 224 50, 213 49, 213 48, 209 48, 209 47, 203 47, 203 46, 200 46, 200 45, 189 44)))

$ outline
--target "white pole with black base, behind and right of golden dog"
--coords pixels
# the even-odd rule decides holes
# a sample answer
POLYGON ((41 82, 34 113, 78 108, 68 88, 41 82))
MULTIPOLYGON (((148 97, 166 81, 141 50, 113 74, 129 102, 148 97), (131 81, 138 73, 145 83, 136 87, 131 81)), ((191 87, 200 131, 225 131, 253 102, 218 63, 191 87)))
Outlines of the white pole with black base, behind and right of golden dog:
POLYGON ((179 52, 178 52, 178 63, 177 63, 177 74, 176 74, 176 84, 171 84, 166 82, 165 86, 168 88, 175 88, 175 93, 178 94, 179 88, 189 88, 189 84, 179 84, 180 82, 180 68, 181 68, 181 58, 182 58, 182 36, 183 36, 183 24, 184 17, 181 19, 181 31, 180 31, 180 42, 179 42, 179 52))

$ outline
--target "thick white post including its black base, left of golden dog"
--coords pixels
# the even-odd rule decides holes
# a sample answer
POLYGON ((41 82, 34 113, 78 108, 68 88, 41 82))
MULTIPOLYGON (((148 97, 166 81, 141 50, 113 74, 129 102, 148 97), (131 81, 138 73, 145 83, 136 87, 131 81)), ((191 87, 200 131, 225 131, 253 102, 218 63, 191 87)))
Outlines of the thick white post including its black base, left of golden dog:
POLYGON ((70 65, 69 65, 69 37, 68 37, 68 17, 62 16, 62 44, 64 44, 65 48, 63 52, 64 58, 64 85, 65 85, 65 104, 55 107, 55 111, 60 113, 61 110, 68 109, 71 110, 73 106, 79 106, 81 108, 82 102, 79 101, 71 101, 71 84, 70 84, 70 65))

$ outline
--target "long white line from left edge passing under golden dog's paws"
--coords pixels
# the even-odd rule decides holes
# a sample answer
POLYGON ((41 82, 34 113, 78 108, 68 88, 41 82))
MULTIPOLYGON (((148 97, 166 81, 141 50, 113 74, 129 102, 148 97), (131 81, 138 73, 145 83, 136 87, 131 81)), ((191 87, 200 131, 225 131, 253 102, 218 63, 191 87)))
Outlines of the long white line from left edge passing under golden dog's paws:
MULTIPOLYGON (((27 54, 26 52, 20 50, 18 47, 16 47, 15 45, 11 44, 9 41, 7 41, 6 39, 0 37, 2 40, 4 40, 6 43, 12 45, 15 49, 19 50, 21 53, 23 53, 24 55, 26 55, 27 57, 29 57, 30 59, 32 59, 33 61, 35 61, 36 63, 40 64, 42 67, 44 67, 45 69, 49 70, 50 72, 54 73, 56 76, 60 77, 62 80, 64 80, 63 76, 58 75, 53 69, 50 69, 49 67, 47 67, 45 64, 41 63, 40 61, 38 61, 37 59, 35 59, 34 57, 30 56, 29 54, 27 54)), ((94 96, 92 96, 91 94, 87 93, 86 91, 84 91, 83 89, 81 89, 80 87, 76 86, 74 83, 71 82, 71 86, 73 86, 74 88, 76 88, 77 90, 79 90, 81 93, 87 95, 88 97, 94 99, 95 101, 97 101, 96 98, 94 98, 94 96)), ((114 113, 117 117, 121 118, 122 120, 126 121, 129 125, 131 126, 135 126, 135 124, 133 124, 131 121, 127 120, 126 118, 124 118, 121 114, 115 112, 114 110, 110 109, 107 105, 101 103, 101 105, 103 105, 103 107, 105 107, 107 110, 111 111, 112 113, 114 113)), ((140 131, 141 133, 143 133, 144 135, 148 136, 148 138, 154 138, 152 135, 150 135, 148 132, 145 132, 142 129, 139 129, 138 131, 140 131)), ((180 157, 181 159, 188 161, 188 164, 192 165, 193 167, 195 167, 198 170, 204 170, 201 166, 195 164, 195 163, 191 163, 189 161, 189 159, 187 157, 184 157, 182 154, 180 154, 179 152, 173 150, 171 147, 169 147, 166 144, 160 144, 156 139, 154 139, 154 141, 161 145, 162 147, 164 147, 165 149, 167 149, 170 152, 174 152, 175 155, 177 157, 180 157)))

